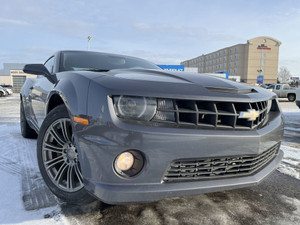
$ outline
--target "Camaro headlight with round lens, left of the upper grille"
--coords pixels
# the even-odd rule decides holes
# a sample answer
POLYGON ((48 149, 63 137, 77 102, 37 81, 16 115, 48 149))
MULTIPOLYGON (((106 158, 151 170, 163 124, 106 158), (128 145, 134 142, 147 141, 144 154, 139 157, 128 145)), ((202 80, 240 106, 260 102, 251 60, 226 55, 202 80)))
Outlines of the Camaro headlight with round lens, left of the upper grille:
POLYGON ((157 103, 155 98, 115 96, 114 107, 120 118, 149 121, 156 113, 157 103))

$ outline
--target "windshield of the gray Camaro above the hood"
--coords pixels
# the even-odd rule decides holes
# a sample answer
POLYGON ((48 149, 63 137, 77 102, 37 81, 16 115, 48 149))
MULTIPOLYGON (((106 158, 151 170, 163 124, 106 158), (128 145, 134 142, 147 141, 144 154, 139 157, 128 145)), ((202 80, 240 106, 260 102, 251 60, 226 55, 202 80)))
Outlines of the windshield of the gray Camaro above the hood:
POLYGON ((112 69, 160 69, 155 64, 129 56, 98 52, 63 52, 60 71, 109 71, 112 69))

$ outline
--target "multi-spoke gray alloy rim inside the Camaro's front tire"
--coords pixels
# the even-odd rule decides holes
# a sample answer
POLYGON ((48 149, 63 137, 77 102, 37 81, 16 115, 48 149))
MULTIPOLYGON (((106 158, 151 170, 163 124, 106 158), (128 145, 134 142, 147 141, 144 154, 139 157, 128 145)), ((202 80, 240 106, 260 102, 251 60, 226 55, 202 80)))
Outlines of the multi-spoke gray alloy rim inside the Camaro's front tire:
POLYGON ((83 188, 70 119, 58 119, 48 127, 42 144, 42 159, 49 178, 59 189, 75 192, 83 188))

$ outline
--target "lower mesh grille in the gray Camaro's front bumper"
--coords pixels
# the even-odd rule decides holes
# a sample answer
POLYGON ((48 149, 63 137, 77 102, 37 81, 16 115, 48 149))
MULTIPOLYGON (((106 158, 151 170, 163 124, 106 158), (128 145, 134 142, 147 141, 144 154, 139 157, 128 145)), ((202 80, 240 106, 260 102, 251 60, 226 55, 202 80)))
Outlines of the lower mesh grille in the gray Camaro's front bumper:
POLYGON ((172 162, 164 182, 199 181, 248 176, 266 166, 277 154, 280 143, 259 155, 220 157, 172 162))

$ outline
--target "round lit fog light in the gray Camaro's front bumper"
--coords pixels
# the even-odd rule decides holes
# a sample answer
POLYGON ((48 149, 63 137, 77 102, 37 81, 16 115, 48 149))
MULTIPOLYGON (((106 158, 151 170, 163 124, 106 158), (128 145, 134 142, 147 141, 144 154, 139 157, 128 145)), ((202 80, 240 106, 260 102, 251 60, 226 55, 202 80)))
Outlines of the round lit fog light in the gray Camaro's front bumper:
POLYGON ((144 166, 144 156, 137 150, 123 152, 114 161, 114 169, 122 177, 136 176, 143 170, 144 166))

